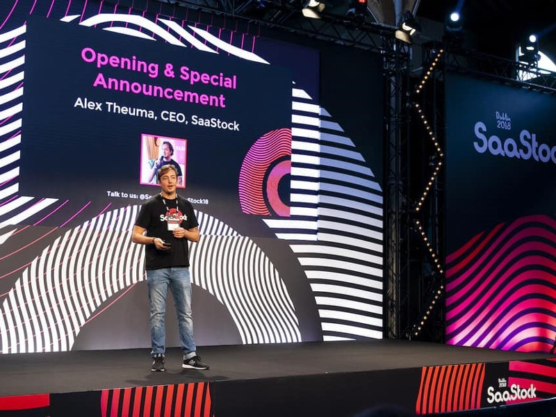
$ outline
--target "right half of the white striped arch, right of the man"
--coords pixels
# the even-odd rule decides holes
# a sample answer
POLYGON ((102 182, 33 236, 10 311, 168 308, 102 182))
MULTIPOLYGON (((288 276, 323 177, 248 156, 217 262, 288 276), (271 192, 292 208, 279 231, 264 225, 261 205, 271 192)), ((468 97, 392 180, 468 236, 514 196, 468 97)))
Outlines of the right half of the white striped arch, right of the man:
POLYGON ((190 248, 193 281, 227 307, 243 343, 301 341, 287 288, 252 240, 202 236, 190 248))

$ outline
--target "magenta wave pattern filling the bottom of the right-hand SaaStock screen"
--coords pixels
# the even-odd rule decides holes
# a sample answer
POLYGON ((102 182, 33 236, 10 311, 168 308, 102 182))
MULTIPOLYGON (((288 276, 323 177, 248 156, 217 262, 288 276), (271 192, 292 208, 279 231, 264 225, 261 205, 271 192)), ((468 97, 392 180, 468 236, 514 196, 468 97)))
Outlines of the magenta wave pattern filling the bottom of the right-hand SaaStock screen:
POLYGON ((556 218, 482 231, 446 258, 446 341, 548 352, 556 337, 556 218))

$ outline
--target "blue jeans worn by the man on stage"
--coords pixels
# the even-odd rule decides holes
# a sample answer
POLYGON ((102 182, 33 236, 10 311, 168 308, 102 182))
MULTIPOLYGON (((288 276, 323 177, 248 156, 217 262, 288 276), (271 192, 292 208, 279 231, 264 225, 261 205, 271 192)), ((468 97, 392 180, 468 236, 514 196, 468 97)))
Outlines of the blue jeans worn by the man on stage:
POLYGON ((147 285, 149 287, 149 301, 151 302, 151 354, 164 353, 166 350, 164 319, 169 287, 176 307, 181 350, 186 355, 195 352, 189 268, 147 270, 147 285))

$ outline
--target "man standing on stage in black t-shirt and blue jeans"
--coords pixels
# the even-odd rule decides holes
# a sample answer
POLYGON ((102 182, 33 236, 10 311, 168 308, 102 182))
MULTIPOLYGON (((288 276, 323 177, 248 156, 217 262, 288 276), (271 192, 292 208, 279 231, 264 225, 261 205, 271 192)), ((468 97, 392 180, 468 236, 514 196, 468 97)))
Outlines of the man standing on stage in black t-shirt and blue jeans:
POLYGON ((193 206, 176 193, 178 172, 163 165, 157 172, 161 193, 140 209, 131 240, 145 245, 145 272, 149 288, 152 371, 164 371, 165 313, 168 288, 176 306, 182 368, 208 369, 195 351, 191 313, 188 241, 199 241, 193 206))

